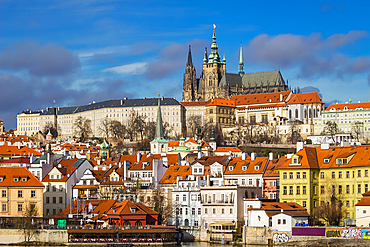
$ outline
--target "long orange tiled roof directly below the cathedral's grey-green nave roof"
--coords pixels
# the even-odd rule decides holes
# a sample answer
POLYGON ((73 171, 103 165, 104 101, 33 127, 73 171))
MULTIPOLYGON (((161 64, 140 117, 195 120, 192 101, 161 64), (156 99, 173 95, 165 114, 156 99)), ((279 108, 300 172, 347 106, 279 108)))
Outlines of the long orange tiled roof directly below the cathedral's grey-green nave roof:
POLYGON ((255 105, 255 104, 271 104, 278 102, 285 102, 287 97, 291 94, 290 91, 276 92, 276 93, 260 93, 260 94, 246 94, 232 96, 231 100, 239 105, 255 105), (282 95, 282 100, 280 100, 282 95))

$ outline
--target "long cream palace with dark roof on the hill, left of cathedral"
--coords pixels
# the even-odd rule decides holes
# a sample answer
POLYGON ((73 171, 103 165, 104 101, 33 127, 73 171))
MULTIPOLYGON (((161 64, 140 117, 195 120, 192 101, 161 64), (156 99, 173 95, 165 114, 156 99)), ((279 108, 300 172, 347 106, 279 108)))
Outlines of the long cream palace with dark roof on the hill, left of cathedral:
MULTIPOLYGON (((73 107, 48 107, 39 111, 36 116, 29 117, 29 113, 17 116, 17 126, 20 134, 30 135, 47 124, 57 124, 61 130, 59 137, 73 137, 73 124, 78 117, 84 117, 91 120, 92 135, 103 137, 104 133, 100 130, 102 122, 105 119, 117 120, 122 124, 127 124, 130 114, 135 111, 136 114, 143 116, 146 122, 155 122, 157 116, 157 98, 109 100, 104 102, 95 102, 83 106, 73 107), (24 126, 24 127, 23 127, 24 126), (34 126, 35 128, 31 127, 34 126), (21 127, 21 128, 19 128, 21 127), (26 128, 27 127, 27 128, 26 128), (29 129, 34 132, 28 132, 29 129), (23 131, 23 132, 22 132, 23 131), (26 132, 25 132, 26 131, 26 132)), ((161 111, 164 123, 171 127, 170 136, 180 135, 184 127, 184 109, 175 98, 161 98, 161 111)))

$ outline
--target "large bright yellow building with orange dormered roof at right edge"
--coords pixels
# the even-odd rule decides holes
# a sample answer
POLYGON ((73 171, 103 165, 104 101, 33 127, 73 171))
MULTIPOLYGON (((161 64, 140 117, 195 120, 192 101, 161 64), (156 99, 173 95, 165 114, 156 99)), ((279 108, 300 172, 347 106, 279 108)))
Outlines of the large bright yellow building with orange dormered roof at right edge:
POLYGON ((312 214, 334 195, 345 220, 356 217, 355 205, 369 190, 370 146, 304 147, 279 168, 280 201, 296 202, 312 214))

